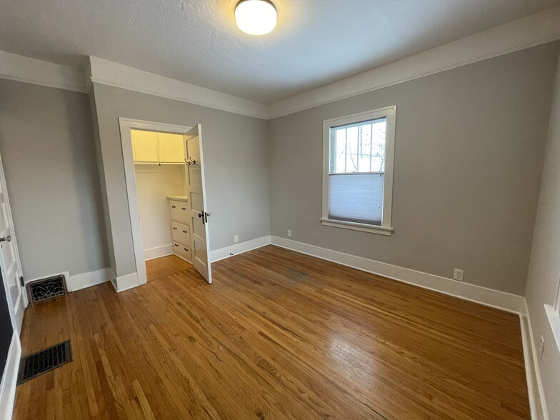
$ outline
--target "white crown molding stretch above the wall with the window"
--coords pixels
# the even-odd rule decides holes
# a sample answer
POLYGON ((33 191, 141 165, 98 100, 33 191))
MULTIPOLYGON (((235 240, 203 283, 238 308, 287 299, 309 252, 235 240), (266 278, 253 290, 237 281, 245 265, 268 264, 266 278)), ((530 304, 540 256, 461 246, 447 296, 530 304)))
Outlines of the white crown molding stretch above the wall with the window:
POLYGON ((560 6, 269 105, 269 119, 560 39, 560 6))

